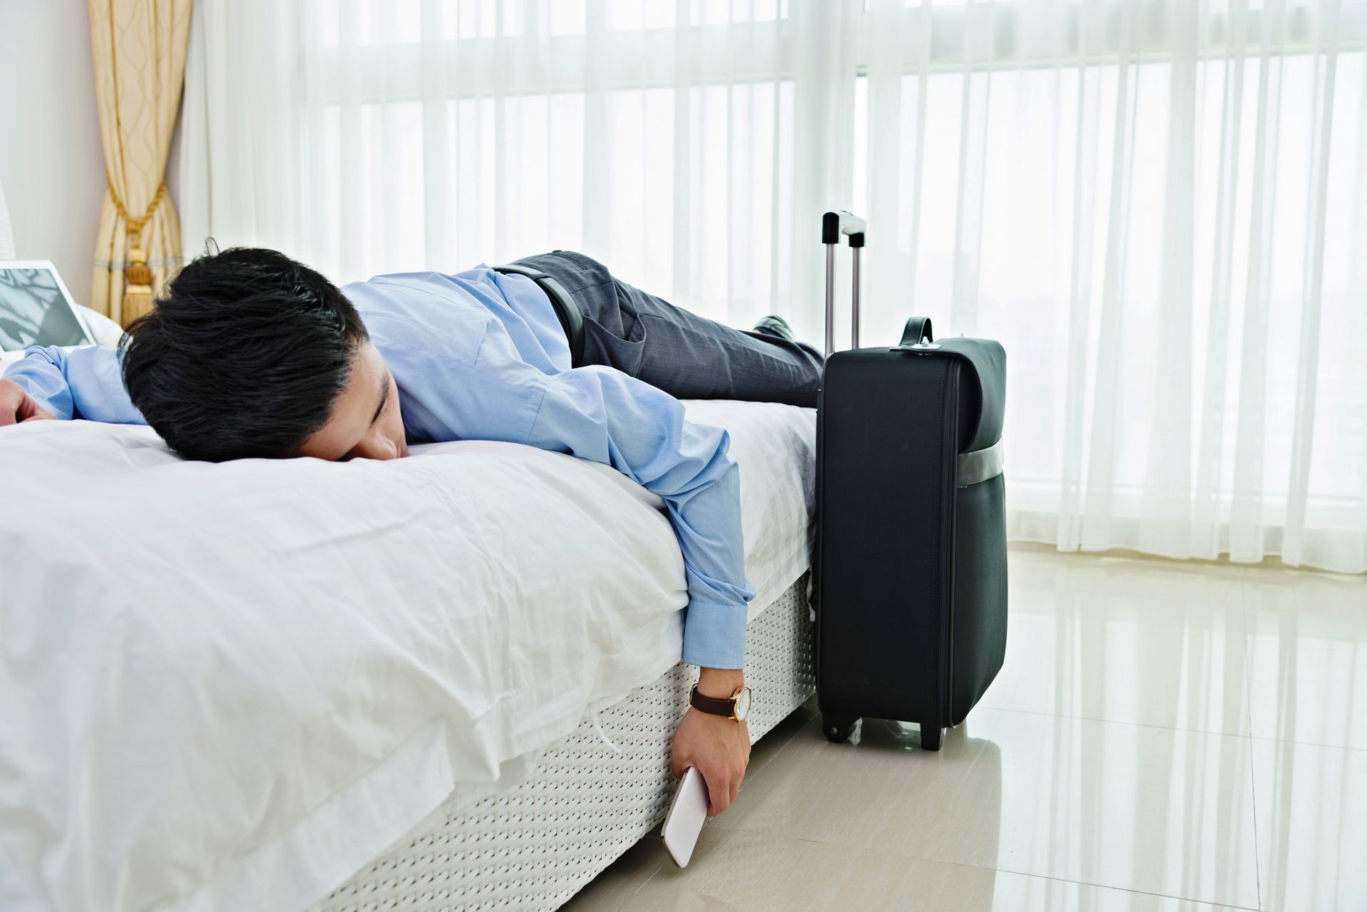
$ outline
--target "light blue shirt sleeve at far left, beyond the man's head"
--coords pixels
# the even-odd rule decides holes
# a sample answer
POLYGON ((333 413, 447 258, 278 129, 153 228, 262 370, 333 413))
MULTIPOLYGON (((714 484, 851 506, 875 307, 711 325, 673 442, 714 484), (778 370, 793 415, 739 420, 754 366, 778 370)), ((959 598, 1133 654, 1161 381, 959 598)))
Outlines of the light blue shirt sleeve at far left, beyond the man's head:
POLYGON ((146 424, 119 369, 115 349, 86 346, 70 351, 33 346, 4 371, 34 401, 59 418, 108 424, 146 424))

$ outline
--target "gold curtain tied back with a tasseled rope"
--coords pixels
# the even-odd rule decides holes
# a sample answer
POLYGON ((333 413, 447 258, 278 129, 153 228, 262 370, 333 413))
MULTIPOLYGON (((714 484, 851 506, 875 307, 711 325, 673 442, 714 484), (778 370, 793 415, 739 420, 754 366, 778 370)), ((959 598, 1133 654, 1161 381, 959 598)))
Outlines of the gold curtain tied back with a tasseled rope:
POLYGON ((150 294, 175 271, 180 253, 165 164, 185 81, 190 3, 89 0, 107 176, 90 306, 122 325, 150 306, 150 294), (130 250, 145 254, 150 276, 128 271, 130 250))

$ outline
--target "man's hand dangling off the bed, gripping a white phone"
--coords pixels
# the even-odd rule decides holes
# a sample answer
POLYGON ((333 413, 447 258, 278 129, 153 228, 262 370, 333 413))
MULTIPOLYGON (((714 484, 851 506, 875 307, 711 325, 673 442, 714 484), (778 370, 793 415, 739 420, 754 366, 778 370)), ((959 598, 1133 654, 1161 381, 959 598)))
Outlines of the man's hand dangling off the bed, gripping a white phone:
MULTIPOLYGON (((703 696, 729 697, 744 684, 740 669, 703 669, 697 690, 703 696)), ((689 767, 707 782, 707 816, 731 807, 745 767, 750 762, 750 730, 744 722, 689 707, 674 732, 670 768, 679 778, 689 767)))

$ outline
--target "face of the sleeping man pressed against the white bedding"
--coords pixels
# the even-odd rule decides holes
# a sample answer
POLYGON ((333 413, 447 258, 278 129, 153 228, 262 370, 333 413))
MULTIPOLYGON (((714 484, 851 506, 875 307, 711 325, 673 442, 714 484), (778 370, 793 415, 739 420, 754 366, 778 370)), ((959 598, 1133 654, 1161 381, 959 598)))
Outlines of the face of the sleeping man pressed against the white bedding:
POLYGON ((343 459, 398 459, 409 454, 399 414, 399 388, 369 342, 351 356, 351 376, 328 423, 299 448, 301 455, 343 459))

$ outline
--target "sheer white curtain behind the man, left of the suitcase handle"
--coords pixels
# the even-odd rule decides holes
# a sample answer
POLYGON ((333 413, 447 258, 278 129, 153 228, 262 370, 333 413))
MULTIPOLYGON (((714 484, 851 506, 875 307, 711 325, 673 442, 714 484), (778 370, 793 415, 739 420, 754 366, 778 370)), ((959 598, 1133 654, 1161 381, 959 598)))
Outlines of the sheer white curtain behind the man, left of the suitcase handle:
POLYGON ((787 302, 820 287, 823 206, 850 204, 853 16, 798 7, 200 3, 186 242, 271 243, 343 280, 574 249, 815 338, 787 302))

